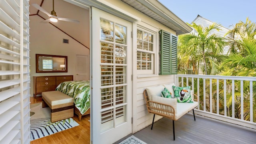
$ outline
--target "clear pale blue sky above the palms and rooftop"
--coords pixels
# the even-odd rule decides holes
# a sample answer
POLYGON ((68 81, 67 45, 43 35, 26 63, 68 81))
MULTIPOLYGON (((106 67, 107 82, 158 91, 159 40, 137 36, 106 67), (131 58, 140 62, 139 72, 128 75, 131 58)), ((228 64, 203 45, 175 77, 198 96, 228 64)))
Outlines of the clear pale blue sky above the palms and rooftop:
MULTIPOLYGON (((158 0, 172 13, 189 24, 199 14, 226 28, 248 17, 256 23, 256 0, 158 0)), ((231 26, 231 27, 230 27, 231 26)))

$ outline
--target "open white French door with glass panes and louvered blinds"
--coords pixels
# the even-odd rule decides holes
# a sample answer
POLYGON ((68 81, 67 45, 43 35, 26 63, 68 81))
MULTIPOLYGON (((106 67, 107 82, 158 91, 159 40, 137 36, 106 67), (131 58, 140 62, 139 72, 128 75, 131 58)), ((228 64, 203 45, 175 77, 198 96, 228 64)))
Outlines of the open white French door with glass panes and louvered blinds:
POLYGON ((92 143, 132 132, 132 23, 92 8, 92 143))

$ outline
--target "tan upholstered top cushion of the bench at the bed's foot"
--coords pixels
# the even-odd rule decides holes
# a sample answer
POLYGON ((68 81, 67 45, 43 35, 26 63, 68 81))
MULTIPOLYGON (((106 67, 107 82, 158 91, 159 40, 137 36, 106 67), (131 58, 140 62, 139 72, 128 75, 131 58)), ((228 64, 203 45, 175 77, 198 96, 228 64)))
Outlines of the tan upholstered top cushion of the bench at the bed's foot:
POLYGON ((51 106, 74 102, 72 97, 58 90, 42 92, 42 98, 44 99, 44 101, 49 102, 51 106))

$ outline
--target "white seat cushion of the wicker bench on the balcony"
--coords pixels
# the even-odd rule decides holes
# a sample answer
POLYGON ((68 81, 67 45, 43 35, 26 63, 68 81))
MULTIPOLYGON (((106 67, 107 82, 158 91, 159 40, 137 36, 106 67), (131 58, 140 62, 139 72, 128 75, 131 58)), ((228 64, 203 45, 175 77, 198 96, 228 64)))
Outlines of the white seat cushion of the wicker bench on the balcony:
POLYGON ((177 113, 175 114, 175 119, 178 120, 180 117, 182 117, 184 114, 186 114, 196 106, 198 106, 198 102, 192 102, 192 103, 177 102, 177 113))

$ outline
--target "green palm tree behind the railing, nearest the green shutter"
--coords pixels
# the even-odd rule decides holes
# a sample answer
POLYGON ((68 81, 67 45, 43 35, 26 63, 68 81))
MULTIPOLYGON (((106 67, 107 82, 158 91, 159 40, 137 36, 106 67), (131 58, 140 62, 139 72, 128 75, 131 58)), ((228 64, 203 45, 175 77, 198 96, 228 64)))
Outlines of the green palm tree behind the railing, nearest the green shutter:
POLYGON ((208 71, 215 72, 212 68, 216 68, 218 65, 216 58, 218 58, 218 54, 222 53, 223 46, 226 44, 225 38, 213 33, 214 30, 220 30, 220 25, 214 23, 206 28, 196 25, 194 22, 188 25, 196 32, 179 37, 178 56, 182 58, 183 64, 189 66, 190 62, 193 68, 198 68, 198 64, 203 63, 206 75, 208 75, 208 71))

